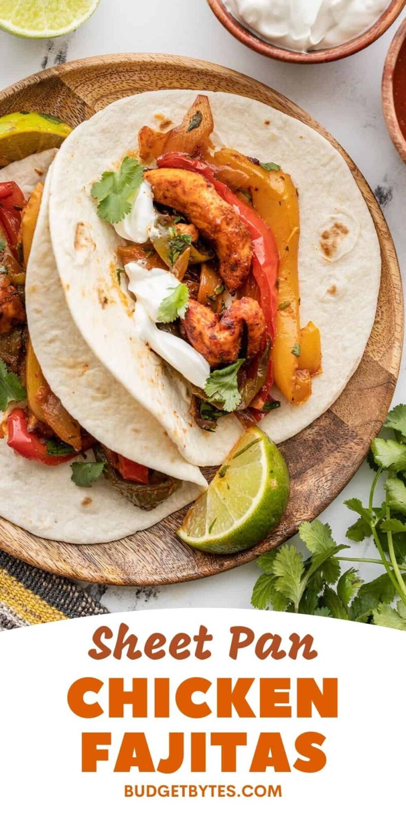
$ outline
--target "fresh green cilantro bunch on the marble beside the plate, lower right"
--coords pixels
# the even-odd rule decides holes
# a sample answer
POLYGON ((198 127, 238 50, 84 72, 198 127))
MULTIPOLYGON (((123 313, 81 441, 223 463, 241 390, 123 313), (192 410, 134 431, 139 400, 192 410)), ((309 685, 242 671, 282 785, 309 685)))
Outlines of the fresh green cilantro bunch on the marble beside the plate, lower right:
POLYGON ((326 615, 364 624, 379 624, 406 631, 406 406, 395 406, 385 424, 393 438, 376 438, 369 463, 374 480, 369 504, 346 501, 358 518, 348 528, 348 539, 360 542, 373 537, 379 559, 356 559, 339 555, 348 548, 337 545, 330 526, 315 520, 300 525, 299 536, 309 550, 304 557, 296 547, 285 545, 258 559, 263 574, 253 589, 253 606, 260 610, 326 615), (374 507, 374 493, 386 472, 386 499, 374 507), (342 573, 341 563, 352 563, 342 573), (365 584, 354 563, 381 564, 386 572, 365 584), (393 602, 396 601, 395 606, 393 602))

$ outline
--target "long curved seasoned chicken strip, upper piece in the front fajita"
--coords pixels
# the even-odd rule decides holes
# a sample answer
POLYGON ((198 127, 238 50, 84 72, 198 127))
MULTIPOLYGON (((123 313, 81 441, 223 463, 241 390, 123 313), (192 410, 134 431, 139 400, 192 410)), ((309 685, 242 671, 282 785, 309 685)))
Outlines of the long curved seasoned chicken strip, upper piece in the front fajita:
POLYGON ((220 276, 230 293, 235 293, 247 279, 253 259, 251 237, 235 209, 197 172, 151 169, 145 172, 145 180, 152 185, 158 203, 182 212, 214 244, 220 276))

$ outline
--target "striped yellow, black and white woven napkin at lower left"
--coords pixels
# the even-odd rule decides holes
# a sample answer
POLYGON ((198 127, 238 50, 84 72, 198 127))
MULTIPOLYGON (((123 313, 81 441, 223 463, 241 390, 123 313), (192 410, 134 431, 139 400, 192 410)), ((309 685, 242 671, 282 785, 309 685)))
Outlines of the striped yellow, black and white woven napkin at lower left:
POLYGON ((0 550, 0 630, 106 613, 89 593, 0 550))

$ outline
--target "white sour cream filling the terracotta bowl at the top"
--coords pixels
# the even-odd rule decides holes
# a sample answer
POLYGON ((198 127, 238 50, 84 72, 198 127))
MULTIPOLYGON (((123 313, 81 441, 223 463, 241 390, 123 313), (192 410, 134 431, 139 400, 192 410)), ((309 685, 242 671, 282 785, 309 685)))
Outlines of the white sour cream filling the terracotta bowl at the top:
POLYGON ((333 48, 352 40, 390 6, 389 0, 223 0, 262 39, 289 50, 333 48))

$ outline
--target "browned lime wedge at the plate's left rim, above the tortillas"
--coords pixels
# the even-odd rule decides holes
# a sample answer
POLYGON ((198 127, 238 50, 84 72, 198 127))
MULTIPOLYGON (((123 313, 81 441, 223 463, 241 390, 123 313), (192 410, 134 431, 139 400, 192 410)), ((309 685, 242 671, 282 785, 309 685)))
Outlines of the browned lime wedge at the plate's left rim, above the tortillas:
MULTIPOLYGON (((1 0, 0 0, 1 3, 1 0)), ((71 133, 56 115, 48 113, 9 113, 0 118, 0 167, 27 158, 27 155, 61 146, 71 133)))

